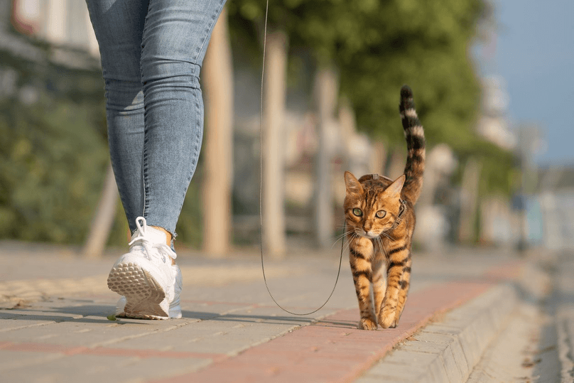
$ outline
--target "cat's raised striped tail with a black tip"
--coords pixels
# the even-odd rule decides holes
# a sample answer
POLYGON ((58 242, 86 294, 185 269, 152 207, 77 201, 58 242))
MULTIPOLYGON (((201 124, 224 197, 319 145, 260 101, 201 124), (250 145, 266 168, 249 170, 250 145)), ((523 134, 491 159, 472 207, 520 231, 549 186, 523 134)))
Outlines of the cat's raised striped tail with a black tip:
POLYGON ((401 88, 401 122, 406 139, 408 156, 406 158, 405 176, 402 195, 413 204, 418 200, 423 188, 423 172, 425 170, 425 131, 418 120, 413 100, 413 91, 408 85, 401 88))

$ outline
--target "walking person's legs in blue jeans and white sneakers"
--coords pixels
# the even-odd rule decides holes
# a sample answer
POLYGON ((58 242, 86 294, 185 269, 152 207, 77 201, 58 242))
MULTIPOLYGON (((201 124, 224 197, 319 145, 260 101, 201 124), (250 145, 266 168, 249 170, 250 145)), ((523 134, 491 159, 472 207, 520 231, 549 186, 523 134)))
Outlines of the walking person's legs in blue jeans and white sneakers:
POLYGON ((181 316, 181 273, 175 262, 167 266, 176 255, 166 242, 175 236, 199 156, 199 71, 223 3, 88 0, 102 53, 112 164, 134 232, 130 252, 108 278, 108 286, 125 296, 121 315, 181 316), (153 221, 150 227, 141 212, 153 221))

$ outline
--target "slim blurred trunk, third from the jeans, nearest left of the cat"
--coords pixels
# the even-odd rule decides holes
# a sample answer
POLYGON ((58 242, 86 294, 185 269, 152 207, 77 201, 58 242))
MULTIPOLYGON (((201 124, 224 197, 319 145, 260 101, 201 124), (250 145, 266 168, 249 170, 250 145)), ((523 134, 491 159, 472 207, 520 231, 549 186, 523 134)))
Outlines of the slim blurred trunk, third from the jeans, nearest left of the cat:
POLYGON ((321 69, 317 75, 316 97, 319 116, 318 151, 315 166, 315 228, 318 246, 327 249, 332 245, 335 222, 332 208, 332 180, 330 126, 335 124, 337 105, 337 76, 332 69, 321 69))

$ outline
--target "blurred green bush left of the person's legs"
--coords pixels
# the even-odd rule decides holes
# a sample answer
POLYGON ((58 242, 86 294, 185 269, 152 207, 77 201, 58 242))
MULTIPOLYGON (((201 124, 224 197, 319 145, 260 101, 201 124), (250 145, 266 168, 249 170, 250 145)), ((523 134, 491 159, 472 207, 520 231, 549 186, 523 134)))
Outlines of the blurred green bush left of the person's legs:
POLYGON ((107 164, 90 112, 47 97, 4 100, 0 135, 0 237, 81 242, 107 164))

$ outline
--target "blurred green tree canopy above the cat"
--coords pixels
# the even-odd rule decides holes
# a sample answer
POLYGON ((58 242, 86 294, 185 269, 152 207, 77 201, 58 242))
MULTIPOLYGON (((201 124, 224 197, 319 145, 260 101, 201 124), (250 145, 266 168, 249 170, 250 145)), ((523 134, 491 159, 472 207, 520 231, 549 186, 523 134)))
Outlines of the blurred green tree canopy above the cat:
MULTIPOLYGON (((241 50, 260 50, 265 4, 229 4, 241 50)), ((408 84, 428 146, 448 144, 462 162, 481 158, 481 188, 510 193, 511 154, 475 133, 481 90, 469 51, 488 13, 484 0, 283 0, 269 4, 269 28, 286 31, 291 55, 306 48, 317 65, 337 68, 360 130, 402 148, 399 90, 408 84)))

